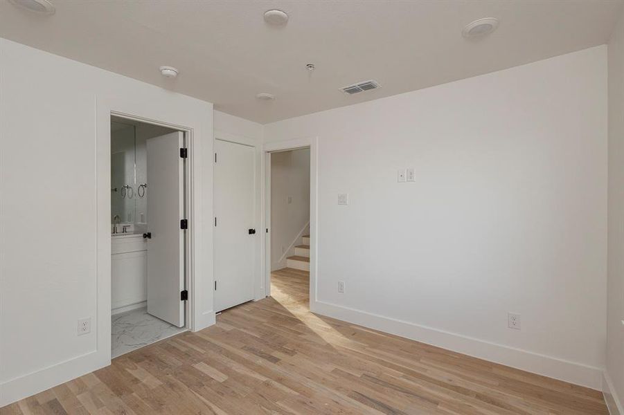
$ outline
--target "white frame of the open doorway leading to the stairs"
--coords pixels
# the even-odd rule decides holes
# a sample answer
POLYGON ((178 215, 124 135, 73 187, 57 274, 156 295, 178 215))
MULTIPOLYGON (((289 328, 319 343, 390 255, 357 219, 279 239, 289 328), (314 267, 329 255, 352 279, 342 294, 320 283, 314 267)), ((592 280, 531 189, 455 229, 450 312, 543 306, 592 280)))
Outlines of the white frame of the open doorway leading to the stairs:
POLYGON ((267 142, 262 145, 262 229, 268 229, 262 238, 262 282, 265 297, 271 295, 271 153, 296 149, 310 149, 310 311, 317 304, 317 279, 319 273, 318 241, 318 151, 319 138, 305 137, 294 140, 267 142))

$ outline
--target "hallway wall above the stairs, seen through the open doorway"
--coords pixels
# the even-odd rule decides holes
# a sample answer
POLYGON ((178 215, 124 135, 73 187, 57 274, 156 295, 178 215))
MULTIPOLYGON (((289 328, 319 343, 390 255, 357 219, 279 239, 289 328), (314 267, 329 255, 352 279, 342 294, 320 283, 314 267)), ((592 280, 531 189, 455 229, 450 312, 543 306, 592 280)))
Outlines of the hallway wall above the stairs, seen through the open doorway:
POLYGON ((271 270, 286 266, 309 223, 310 149, 271 154, 271 270))

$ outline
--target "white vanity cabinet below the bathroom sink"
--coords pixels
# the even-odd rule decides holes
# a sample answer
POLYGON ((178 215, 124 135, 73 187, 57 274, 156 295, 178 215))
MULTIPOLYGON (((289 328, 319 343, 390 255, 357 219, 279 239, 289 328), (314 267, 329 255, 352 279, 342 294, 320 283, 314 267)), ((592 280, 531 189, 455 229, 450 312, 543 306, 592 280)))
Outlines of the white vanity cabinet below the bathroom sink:
POLYGON ((142 234, 112 237, 112 314, 145 306, 148 299, 148 246, 142 234))

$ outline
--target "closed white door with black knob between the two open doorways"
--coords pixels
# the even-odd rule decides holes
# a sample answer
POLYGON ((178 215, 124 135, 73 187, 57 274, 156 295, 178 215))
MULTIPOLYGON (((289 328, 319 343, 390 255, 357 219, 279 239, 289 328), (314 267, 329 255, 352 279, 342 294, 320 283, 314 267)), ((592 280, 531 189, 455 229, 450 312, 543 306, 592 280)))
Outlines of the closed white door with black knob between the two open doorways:
POLYGON ((254 149, 215 140, 215 153, 215 311, 222 311, 253 299, 254 149))

